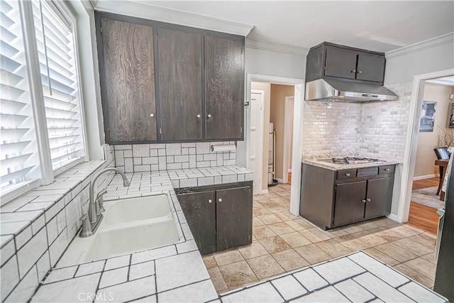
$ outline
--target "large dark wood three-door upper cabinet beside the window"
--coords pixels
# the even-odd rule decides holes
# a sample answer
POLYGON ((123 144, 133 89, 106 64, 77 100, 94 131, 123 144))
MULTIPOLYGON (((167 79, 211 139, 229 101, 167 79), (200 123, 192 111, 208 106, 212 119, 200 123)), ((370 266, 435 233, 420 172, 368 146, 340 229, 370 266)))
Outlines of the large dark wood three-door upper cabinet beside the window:
POLYGON ((95 12, 106 143, 243 140, 239 35, 95 12))

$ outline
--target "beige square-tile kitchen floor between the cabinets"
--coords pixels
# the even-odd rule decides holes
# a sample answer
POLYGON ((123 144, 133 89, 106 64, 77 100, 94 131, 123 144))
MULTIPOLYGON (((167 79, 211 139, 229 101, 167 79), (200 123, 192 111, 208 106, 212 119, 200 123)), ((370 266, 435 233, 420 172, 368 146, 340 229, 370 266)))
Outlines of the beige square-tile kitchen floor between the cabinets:
POLYGON ((323 231, 290 214, 290 185, 254 196, 253 243, 204 255, 218 293, 284 272, 364 250, 404 275, 433 288, 435 236, 387 218, 323 231))

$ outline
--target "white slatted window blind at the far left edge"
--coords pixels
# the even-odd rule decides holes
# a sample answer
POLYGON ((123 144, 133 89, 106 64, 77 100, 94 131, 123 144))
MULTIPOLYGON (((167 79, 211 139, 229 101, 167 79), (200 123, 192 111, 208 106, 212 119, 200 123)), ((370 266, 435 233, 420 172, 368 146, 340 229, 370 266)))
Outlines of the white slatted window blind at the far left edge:
POLYGON ((0 189, 30 180, 33 109, 18 1, 0 1, 0 189))

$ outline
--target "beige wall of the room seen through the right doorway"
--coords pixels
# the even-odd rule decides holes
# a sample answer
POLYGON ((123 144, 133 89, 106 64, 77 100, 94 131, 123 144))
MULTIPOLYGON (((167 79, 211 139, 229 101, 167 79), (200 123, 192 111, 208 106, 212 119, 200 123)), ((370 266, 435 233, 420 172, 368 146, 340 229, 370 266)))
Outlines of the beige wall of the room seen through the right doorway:
POLYGON ((433 148, 438 147, 438 135, 443 130, 448 131, 448 107, 453 100, 449 99, 453 87, 443 84, 434 84, 426 82, 424 87, 423 101, 436 101, 436 116, 433 132, 419 133, 418 150, 416 151, 416 166, 414 168, 414 177, 428 176, 438 174, 438 167, 433 165, 436 155, 433 148), (439 128, 439 127, 440 128, 439 128))

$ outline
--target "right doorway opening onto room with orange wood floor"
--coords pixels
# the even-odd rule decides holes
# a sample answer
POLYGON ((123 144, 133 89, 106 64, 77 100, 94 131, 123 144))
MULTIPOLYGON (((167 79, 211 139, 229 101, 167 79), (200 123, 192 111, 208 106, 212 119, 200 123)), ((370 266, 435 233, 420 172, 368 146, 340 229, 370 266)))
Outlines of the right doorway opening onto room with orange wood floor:
MULTIPOLYGON (((437 233, 438 226, 436 211, 444 206, 444 193, 438 189, 439 180, 444 174, 435 165, 438 157, 434 148, 453 145, 454 128, 450 128, 453 94, 453 78, 443 77, 424 82, 407 224, 433 234, 437 233)), ((441 158, 448 158, 448 155, 442 155, 441 158)))

